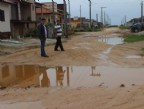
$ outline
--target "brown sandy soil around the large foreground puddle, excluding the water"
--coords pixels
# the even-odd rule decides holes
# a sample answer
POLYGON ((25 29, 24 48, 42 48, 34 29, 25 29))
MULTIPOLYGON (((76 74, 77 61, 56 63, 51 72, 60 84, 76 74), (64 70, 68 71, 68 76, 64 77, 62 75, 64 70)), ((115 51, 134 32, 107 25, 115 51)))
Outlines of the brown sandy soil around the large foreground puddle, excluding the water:
MULTIPOLYGON (((97 33, 81 33, 63 43, 64 52, 54 51, 53 45, 47 46, 48 58, 40 57, 39 48, 33 48, 1 56, 0 63, 143 68, 144 58, 140 55, 144 42, 113 46, 97 41, 99 37, 117 37, 124 33, 117 28, 97 33), (110 52, 106 53, 108 49, 110 52)), ((0 109, 143 109, 143 95, 144 85, 112 89, 9 87, 0 89, 0 109)))

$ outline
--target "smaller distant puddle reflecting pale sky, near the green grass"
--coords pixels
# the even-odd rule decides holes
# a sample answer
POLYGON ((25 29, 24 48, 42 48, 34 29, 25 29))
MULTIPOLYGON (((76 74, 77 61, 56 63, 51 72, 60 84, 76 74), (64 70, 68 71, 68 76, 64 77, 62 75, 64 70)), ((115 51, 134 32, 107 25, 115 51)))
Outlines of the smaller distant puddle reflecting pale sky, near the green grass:
POLYGON ((111 45, 123 44, 122 37, 100 37, 98 42, 104 42, 111 45))

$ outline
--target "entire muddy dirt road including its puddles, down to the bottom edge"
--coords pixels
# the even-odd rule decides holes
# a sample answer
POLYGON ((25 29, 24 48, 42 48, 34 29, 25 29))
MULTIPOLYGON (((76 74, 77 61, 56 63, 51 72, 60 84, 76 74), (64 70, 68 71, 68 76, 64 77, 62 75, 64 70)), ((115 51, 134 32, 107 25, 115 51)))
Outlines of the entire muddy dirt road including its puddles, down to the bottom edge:
MULTIPOLYGON (((109 28, 46 46, 5 48, 0 56, 0 109, 143 109, 144 42, 124 43, 109 28)), ((39 43, 37 43, 39 45, 39 43)))

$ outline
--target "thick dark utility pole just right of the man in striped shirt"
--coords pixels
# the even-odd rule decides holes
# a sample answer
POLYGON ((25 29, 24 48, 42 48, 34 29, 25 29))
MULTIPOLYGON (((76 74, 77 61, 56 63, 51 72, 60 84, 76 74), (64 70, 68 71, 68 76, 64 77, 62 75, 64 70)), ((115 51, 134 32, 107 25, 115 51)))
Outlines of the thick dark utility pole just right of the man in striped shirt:
POLYGON ((66 38, 68 38, 67 34, 67 8, 66 8, 66 1, 63 0, 64 2, 64 35, 66 38))

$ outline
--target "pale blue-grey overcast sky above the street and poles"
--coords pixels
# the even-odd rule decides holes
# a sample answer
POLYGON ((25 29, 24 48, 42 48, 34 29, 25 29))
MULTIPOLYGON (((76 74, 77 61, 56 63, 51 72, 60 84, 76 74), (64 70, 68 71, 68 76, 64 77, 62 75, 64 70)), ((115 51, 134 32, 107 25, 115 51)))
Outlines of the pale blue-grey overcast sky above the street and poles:
MULTIPOLYGON (((38 1, 38 0, 37 0, 38 1)), ((52 0, 39 0, 40 2, 51 2, 52 0)), ((57 3, 63 3, 63 0, 54 0, 57 3)), ((66 0, 68 3, 68 0, 66 0)), ((92 2, 92 19, 96 19, 96 14, 101 16, 101 8, 111 18, 111 24, 121 24, 126 16, 127 21, 132 18, 141 16, 141 0, 91 0, 92 2)), ((89 18, 89 1, 88 0, 70 0, 71 17, 81 16, 89 18)))

